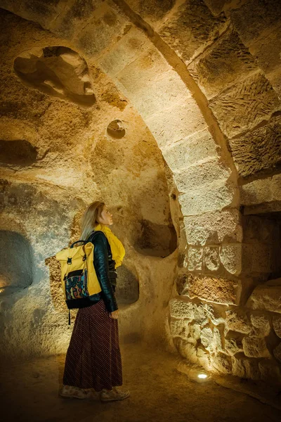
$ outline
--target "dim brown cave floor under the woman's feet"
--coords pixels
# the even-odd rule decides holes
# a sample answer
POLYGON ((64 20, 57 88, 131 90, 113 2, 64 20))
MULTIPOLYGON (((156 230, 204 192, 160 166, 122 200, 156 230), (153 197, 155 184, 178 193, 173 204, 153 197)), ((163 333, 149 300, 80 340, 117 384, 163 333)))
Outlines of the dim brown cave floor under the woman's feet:
POLYGON ((242 392, 223 388, 211 379, 190 381, 176 370, 177 359, 163 350, 139 343, 122 345, 124 402, 58 396, 65 355, 37 358, 1 370, 1 416, 5 422, 103 421, 247 421, 281 420, 281 411, 242 392), (5 412, 4 412, 4 409, 5 412))

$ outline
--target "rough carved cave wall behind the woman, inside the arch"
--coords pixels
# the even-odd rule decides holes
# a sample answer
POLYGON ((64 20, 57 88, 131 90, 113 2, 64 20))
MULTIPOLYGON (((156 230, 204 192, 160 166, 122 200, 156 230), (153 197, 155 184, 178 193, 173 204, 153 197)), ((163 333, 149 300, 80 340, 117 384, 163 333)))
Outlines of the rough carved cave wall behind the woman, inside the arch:
POLYGON ((73 44, 4 10, 1 27, 1 354, 67 350, 76 311, 68 326, 54 255, 79 238, 81 213, 100 199, 126 248, 118 269, 120 338, 158 342, 178 227, 157 143, 128 98, 73 44), (72 74, 79 87, 70 86, 72 74), (42 88, 46 80, 53 91, 42 88))

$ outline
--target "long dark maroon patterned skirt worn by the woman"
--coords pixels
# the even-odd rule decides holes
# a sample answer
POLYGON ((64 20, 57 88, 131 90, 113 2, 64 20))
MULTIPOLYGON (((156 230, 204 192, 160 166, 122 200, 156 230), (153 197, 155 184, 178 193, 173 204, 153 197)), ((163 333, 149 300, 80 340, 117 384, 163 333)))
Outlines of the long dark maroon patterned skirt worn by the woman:
POLYGON ((118 321, 110 318, 103 300, 77 312, 63 384, 96 391, 122 385, 118 321))

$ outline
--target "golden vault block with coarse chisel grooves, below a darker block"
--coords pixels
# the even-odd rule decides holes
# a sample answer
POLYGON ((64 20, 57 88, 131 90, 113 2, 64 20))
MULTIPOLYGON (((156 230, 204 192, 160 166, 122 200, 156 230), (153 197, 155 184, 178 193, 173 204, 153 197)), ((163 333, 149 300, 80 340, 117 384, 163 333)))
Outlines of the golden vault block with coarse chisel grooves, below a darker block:
POLYGON ((277 94, 261 73, 237 82, 228 91, 211 100, 209 106, 228 138, 253 129, 281 109, 277 94))

